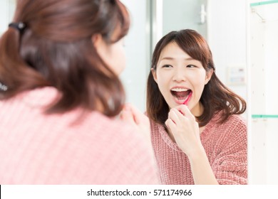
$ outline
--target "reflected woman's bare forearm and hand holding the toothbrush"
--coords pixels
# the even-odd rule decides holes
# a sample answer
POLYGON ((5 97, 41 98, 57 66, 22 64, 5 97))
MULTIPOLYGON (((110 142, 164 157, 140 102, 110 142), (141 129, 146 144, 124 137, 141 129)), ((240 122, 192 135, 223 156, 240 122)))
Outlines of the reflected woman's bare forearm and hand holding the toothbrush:
POLYGON ((177 145, 187 155, 195 184, 217 185, 218 182, 200 140, 199 125, 186 105, 170 109, 165 124, 177 145))

